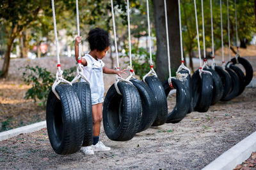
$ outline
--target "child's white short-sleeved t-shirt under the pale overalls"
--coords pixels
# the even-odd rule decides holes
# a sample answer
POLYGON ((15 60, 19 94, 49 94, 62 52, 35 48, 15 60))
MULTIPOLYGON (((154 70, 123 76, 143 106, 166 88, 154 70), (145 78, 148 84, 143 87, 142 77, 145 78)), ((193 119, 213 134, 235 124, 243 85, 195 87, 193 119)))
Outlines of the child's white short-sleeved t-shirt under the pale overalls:
MULTIPOLYGON (((101 66, 104 67, 105 64, 102 60, 98 59, 98 60, 95 60, 92 55, 90 54, 86 54, 84 55, 83 57, 86 62, 87 62, 87 66, 84 66, 84 76, 86 76, 86 78, 88 78, 88 80, 90 81, 91 79, 91 73, 92 73, 92 65, 94 64, 95 66, 101 66)), ((83 78, 81 78, 81 81, 84 81, 83 78)))

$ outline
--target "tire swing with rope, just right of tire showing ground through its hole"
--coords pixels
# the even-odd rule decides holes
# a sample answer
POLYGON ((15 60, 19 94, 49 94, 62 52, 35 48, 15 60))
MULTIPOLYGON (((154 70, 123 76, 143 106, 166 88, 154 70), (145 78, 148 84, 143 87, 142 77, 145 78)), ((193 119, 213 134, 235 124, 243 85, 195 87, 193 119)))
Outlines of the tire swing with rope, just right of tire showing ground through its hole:
MULTIPOLYGON (((201 1, 202 3, 202 1, 201 1)), ((199 31, 198 31, 198 21, 196 13, 196 1, 195 4, 195 18, 196 18, 196 34, 197 34, 197 43, 198 43, 198 55, 200 60, 200 68, 195 71, 193 74, 192 88, 193 88, 193 106, 194 110, 198 112, 205 112, 209 110, 212 101, 212 89, 213 81, 212 74, 209 71, 205 71, 202 67, 202 60, 200 54, 200 41, 199 41, 199 31)))

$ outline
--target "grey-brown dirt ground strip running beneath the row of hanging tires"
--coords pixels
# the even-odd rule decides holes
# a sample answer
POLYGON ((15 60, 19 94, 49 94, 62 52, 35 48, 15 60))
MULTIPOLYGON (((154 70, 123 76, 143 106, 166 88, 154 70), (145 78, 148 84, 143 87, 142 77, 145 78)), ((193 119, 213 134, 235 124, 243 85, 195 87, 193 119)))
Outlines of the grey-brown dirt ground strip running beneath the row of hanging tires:
MULTIPOLYGON (((169 99, 169 105, 175 102, 169 99)), ((127 142, 100 139, 110 152, 57 155, 46 129, 0 142, 0 169, 201 169, 255 131, 256 90, 246 89, 206 113, 143 131, 127 142)))

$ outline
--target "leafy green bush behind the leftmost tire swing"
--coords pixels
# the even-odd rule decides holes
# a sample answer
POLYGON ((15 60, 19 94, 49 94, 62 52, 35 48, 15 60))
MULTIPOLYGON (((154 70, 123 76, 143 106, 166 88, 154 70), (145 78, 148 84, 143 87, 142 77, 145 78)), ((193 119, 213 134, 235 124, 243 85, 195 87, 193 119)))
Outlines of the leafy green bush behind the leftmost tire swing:
MULTIPOLYGON (((26 92, 26 99, 34 99, 36 102, 37 99, 42 101, 45 106, 49 91, 52 89, 52 84, 55 81, 55 74, 47 71, 46 68, 42 67, 31 67, 26 66, 22 67, 25 69, 23 72, 22 80, 28 85, 32 84, 32 87, 26 92)), ((63 77, 72 81, 76 74, 76 67, 71 67, 63 71, 63 77)))

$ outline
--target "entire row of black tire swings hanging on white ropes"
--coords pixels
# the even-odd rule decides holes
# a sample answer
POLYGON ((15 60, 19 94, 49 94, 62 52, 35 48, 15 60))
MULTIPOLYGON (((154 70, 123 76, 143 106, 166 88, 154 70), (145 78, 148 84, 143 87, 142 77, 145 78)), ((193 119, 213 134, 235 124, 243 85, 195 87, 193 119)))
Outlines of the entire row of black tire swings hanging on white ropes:
MULTIPOLYGON (((65 80, 62 77, 63 71, 61 70, 60 65, 54 0, 51 0, 51 2, 53 16, 52 18, 54 22, 54 36, 56 39, 56 55, 58 63, 56 80, 52 85, 52 90, 49 92, 49 96, 47 99, 47 132, 49 136, 49 141, 54 152, 61 155, 67 155, 71 153, 76 153, 81 148, 81 146, 90 146, 93 143, 90 81, 88 81, 83 74, 83 66, 81 65, 80 45, 77 76, 71 82, 65 80), (79 80, 79 78, 83 78, 85 82, 76 82, 77 80, 79 80)), ((248 60, 239 57, 238 50, 236 57, 234 59, 230 59, 230 62, 228 62, 226 67, 224 65, 225 62, 223 62, 222 67, 215 66, 214 57, 212 57, 212 67, 207 66, 206 60, 204 60, 204 66, 202 66, 200 60, 200 69, 198 69, 191 78, 188 67, 184 66, 184 57, 182 53, 182 32, 180 23, 180 51, 182 60, 181 65, 177 70, 177 76, 172 77, 170 67, 170 48, 168 40, 166 0, 164 0, 164 11, 166 21, 166 43, 168 51, 167 55, 169 65, 169 78, 162 84, 161 81, 157 78, 157 74, 153 68, 152 54, 150 48, 150 19, 147 0, 150 71, 145 76, 143 76, 143 81, 141 81, 135 78, 135 73, 132 69, 129 0, 127 0, 130 75, 126 79, 116 76, 115 83, 109 88, 103 104, 104 131, 108 138, 113 141, 128 141, 132 139, 137 132, 144 131, 150 126, 158 126, 165 123, 175 124, 177 122, 180 122, 184 117, 186 117, 187 113, 191 113, 191 111, 193 110, 201 112, 207 111, 211 104, 214 104, 219 100, 228 101, 241 94, 244 90, 244 87, 248 85, 248 83, 250 83, 250 81, 252 80, 252 66, 250 65, 248 60), (246 70, 246 75, 244 76, 243 71, 241 71, 239 67, 234 66, 234 64, 242 64, 244 66, 244 69, 246 70), (176 104, 173 110, 168 113, 168 104, 166 97, 172 89, 177 90, 176 104)), ((120 69, 117 51, 118 48, 116 44, 113 0, 111 0, 111 12, 113 18, 113 32, 115 36, 116 69, 120 69)), ((77 35, 80 36, 78 0, 76 0, 76 13, 77 35)), ((197 16, 196 31, 198 36, 197 16)), ((212 49, 214 49, 213 36, 212 49)), ((199 57, 201 57, 199 38, 198 52, 199 57)), ((212 52, 214 52, 214 50, 212 50, 212 52)))

